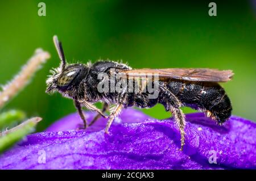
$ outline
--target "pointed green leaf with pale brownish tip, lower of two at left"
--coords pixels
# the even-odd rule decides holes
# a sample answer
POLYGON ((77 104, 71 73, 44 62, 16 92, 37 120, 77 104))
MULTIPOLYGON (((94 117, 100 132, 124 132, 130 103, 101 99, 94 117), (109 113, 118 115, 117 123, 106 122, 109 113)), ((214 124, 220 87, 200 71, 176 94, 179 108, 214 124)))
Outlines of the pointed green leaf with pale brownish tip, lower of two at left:
POLYGON ((41 120, 42 118, 40 117, 33 117, 18 125, 17 127, 1 133, 0 153, 10 148, 10 146, 14 145, 17 141, 21 140, 27 134, 33 132, 35 130, 36 124, 41 120))

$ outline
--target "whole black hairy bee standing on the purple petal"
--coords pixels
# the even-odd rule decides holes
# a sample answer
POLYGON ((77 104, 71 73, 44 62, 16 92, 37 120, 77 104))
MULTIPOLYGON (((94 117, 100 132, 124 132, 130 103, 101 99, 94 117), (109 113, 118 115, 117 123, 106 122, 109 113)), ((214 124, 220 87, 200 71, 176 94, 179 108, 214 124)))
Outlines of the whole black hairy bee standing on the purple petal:
MULTIPOLYGON (((92 125, 100 116, 108 117, 105 132, 108 133, 110 125, 122 108, 136 106, 139 108, 150 108, 157 103, 163 104, 166 111, 170 111, 179 127, 181 135, 181 150, 184 146, 185 115, 180 110, 183 106, 192 107, 203 111, 208 117, 216 120, 222 125, 231 116, 232 106, 225 90, 218 82, 229 81, 233 73, 231 70, 216 69, 132 69, 126 64, 114 61, 98 61, 95 64, 70 64, 65 61, 61 43, 57 36, 53 36, 55 47, 59 54, 61 64, 59 68, 53 69, 46 81, 46 92, 59 91, 64 97, 74 100, 75 106, 84 121, 84 128, 88 126, 82 113, 81 106, 89 110, 97 111, 98 114, 89 124, 92 125), (99 75, 104 73, 104 78, 99 75), (135 91, 136 82, 142 79, 142 74, 157 74, 158 81, 146 81, 146 86, 151 83, 158 87, 158 96, 152 98, 146 86, 139 86, 135 91), (112 79, 113 75, 121 74, 121 78, 112 79), (108 91, 99 91, 98 85, 104 79, 109 83, 108 91), (120 80, 133 79, 131 85, 121 85, 121 91, 109 91, 120 80), (137 81, 136 81, 137 80, 137 81), (114 84, 112 84, 114 83, 114 84), (132 91, 131 91, 132 90, 132 91), (93 103, 104 102, 102 110, 93 103), (110 104, 115 104, 110 115, 104 112, 109 109, 110 104)), ((148 77, 144 77, 148 79, 148 77)), ((154 78, 153 78, 154 79, 154 78)), ((106 87, 105 87, 106 88, 106 87)))

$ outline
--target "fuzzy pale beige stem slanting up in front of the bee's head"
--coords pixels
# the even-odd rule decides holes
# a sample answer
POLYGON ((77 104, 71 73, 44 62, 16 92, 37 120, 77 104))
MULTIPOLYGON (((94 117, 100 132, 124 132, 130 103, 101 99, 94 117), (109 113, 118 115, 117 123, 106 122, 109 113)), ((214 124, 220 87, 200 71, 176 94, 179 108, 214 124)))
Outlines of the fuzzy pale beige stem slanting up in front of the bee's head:
POLYGON ((0 108, 27 85, 35 71, 38 70, 40 65, 46 62, 49 57, 50 55, 48 52, 44 52, 42 49, 35 50, 34 56, 28 60, 22 70, 20 70, 10 83, 3 86, 3 91, 0 92, 0 108))

